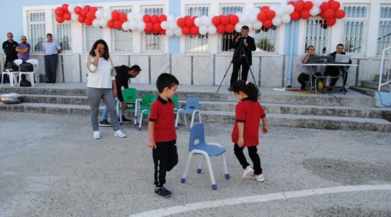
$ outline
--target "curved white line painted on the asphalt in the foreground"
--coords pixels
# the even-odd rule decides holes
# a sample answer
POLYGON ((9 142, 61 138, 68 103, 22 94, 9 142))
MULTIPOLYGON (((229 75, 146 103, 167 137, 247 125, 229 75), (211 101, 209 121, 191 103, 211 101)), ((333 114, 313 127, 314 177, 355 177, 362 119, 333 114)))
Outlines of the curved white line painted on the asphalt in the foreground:
POLYGON ((242 203, 266 202, 271 200, 289 199, 295 197, 306 197, 312 195, 325 195, 333 193, 356 192, 356 191, 373 191, 373 190, 391 190, 391 185, 353 185, 340 186, 331 188, 317 188, 302 191, 280 192, 266 195, 254 195, 248 197, 235 197, 219 200, 210 200, 196 203, 188 203, 180 206, 173 206, 158 210, 151 210, 139 214, 131 215, 130 217, 164 217, 173 214, 195 211, 201 209, 209 209, 214 207, 238 205, 242 203))

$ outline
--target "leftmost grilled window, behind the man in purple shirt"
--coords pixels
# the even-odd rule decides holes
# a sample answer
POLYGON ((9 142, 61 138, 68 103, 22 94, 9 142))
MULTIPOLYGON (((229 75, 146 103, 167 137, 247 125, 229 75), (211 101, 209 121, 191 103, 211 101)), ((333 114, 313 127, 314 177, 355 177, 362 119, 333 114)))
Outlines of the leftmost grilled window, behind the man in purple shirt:
POLYGON ((27 13, 27 42, 31 45, 31 52, 43 52, 45 33, 45 12, 31 11, 27 13))

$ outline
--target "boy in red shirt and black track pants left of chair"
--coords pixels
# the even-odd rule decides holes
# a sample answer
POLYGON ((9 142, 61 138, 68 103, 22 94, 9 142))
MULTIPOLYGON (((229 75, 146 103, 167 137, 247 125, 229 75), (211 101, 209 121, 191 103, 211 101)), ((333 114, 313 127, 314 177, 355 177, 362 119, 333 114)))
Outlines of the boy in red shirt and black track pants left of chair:
POLYGON ((156 80, 159 97, 152 104, 148 124, 148 147, 152 148, 155 164, 155 194, 170 197, 171 192, 163 187, 166 183, 166 172, 178 163, 176 152, 176 132, 174 124, 174 96, 179 81, 170 74, 163 73, 156 80))

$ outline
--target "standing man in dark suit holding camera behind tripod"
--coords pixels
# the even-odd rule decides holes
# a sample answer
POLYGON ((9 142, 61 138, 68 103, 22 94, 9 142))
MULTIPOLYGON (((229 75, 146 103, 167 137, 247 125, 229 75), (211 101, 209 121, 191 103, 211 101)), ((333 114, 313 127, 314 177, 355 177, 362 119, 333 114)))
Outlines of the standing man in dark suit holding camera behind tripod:
POLYGON ((241 79, 247 80, 248 70, 252 63, 251 51, 255 51, 257 49, 257 47, 255 46, 254 38, 248 36, 248 32, 249 32, 248 26, 242 26, 240 35, 238 36, 238 38, 234 39, 231 43, 232 48, 235 48, 234 57, 232 58, 232 63, 234 64, 234 68, 231 75, 231 85, 238 80, 240 65, 241 65, 241 79))

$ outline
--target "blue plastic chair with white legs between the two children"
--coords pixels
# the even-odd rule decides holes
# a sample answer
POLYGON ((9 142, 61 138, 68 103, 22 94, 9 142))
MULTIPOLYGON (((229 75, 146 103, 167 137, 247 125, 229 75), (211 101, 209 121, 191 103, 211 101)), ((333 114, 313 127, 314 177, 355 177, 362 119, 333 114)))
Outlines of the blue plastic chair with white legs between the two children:
POLYGON ((189 157, 187 158, 187 163, 185 166, 185 171, 183 172, 181 182, 185 183, 186 175, 189 170, 190 161, 193 155, 201 155, 201 160, 198 165, 197 173, 201 173, 202 163, 204 158, 206 159, 206 163, 208 165, 209 175, 211 177, 212 189, 217 190, 217 184, 215 180, 215 176, 213 175, 212 164, 210 161, 211 156, 222 156, 223 165, 224 165, 224 174, 225 178, 229 179, 227 163, 225 161, 224 152, 225 148, 221 147, 221 145, 211 142, 205 142, 205 134, 204 134, 204 124, 197 123, 190 129, 190 142, 189 142, 189 157))

